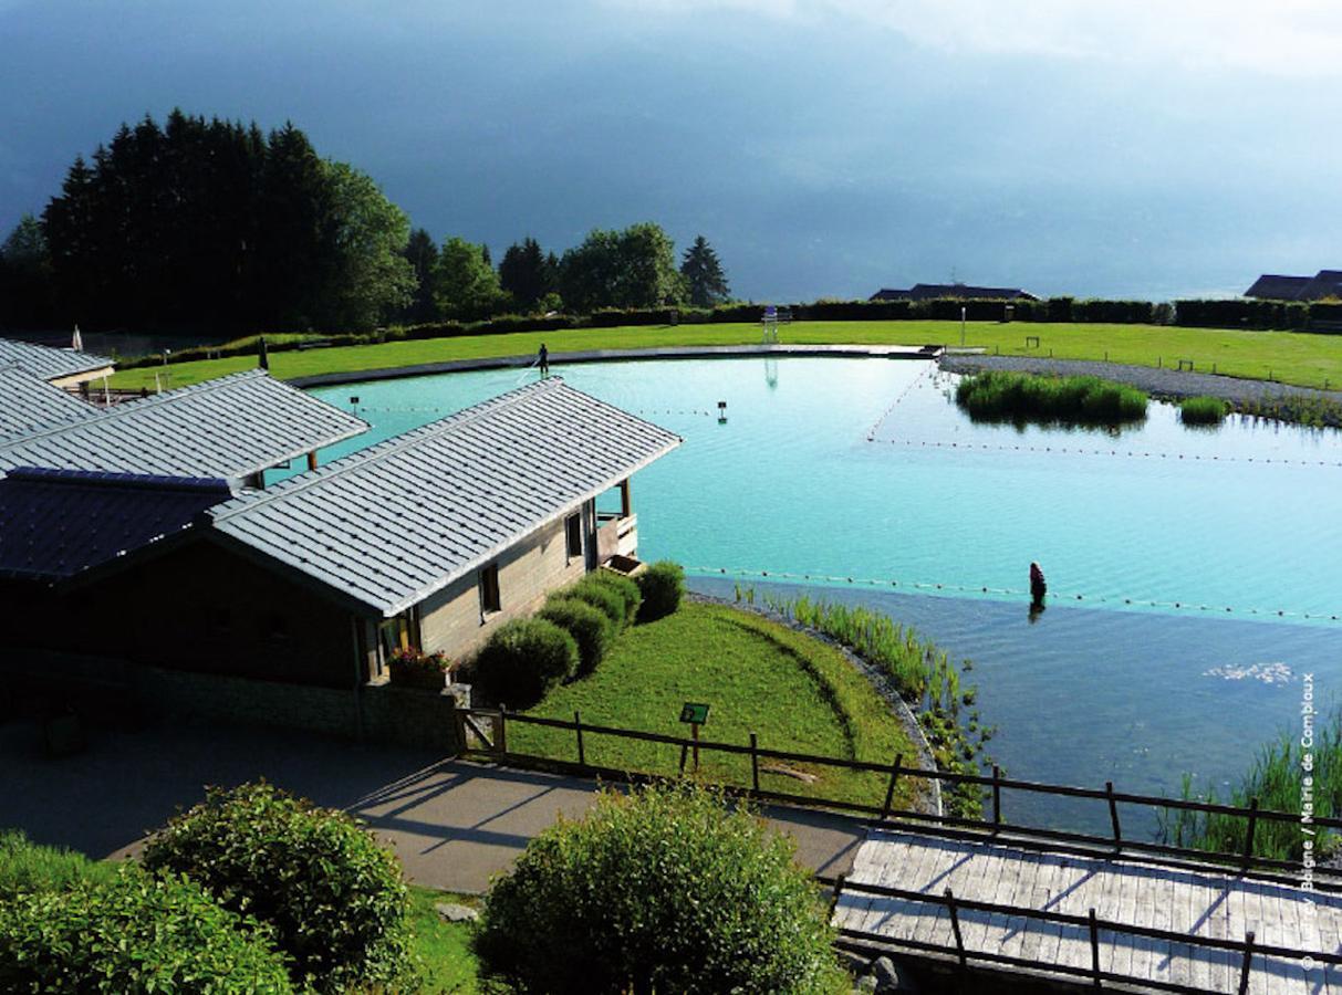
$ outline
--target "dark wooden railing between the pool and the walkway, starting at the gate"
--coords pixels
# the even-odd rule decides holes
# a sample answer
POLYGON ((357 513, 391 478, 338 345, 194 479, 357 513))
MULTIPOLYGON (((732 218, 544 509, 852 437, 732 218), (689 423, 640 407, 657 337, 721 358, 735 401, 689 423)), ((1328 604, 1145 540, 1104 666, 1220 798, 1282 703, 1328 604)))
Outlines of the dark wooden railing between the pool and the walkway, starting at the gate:
MULTIPOLYGON (((1300 825, 1298 813, 1275 811, 1259 807, 1257 799, 1252 799, 1247 807, 1219 805, 1215 802, 1196 802, 1181 798, 1162 798, 1159 795, 1131 794, 1115 791, 1113 782, 1106 782, 1103 788, 1072 787, 1067 784, 1048 784, 1033 780, 1019 780, 1005 778, 1001 770, 994 767, 992 775, 957 774, 951 771, 922 770, 906 767, 903 756, 895 756, 891 763, 871 763, 866 760, 848 760, 837 756, 819 756, 815 754, 792 752, 786 750, 770 750, 761 747, 754 735, 749 744, 719 743, 713 740, 692 740, 684 736, 671 736, 660 732, 644 732, 641 729, 625 729, 613 725, 597 725, 582 721, 578 712, 573 713, 573 720, 546 719, 537 715, 511 712, 505 708, 466 708, 458 709, 459 742, 466 744, 468 752, 487 754, 499 759, 530 760, 561 764, 572 768, 577 774, 600 775, 608 778, 625 778, 631 771, 611 767, 593 766, 588 763, 588 739, 592 736, 612 736, 616 739, 639 740, 644 743, 662 743, 680 751, 679 770, 683 772, 691 751, 698 750, 706 754, 726 754, 747 756, 750 759, 750 786, 726 786, 730 790, 742 791, 761 801, 785 802, 793 805, 824 806, 860 815, 875 817, 884 823, 909 825, 919 833, 938 834, 954 838, 982 838, 982 837, 1011 837, 1012 846, 1044 850, 1070 850, 1075 853, 1094 856, 1096 850, 1110 856, 1141 856, 1143 860, 1153 860, 1168 866, 1184 866, 1205 869, 1208 862, 1224 864, 1241 873, 1252 873, 1264 880, 1283 884, 1299 884, 1299 872, 1303 864, 1295 860, 1280 860, 1261 857, 1253 852, 1257 827, 1267 822, 1286 822, 1300 825), (553 729, 566 729, 573 734, 572 760, 562 756, 541 754, 518 754, 509 750, 507 727, 519 723, 525 725, 539 725, 553 729), (484 725, 490 725, 490 732, 484 725), (479 746, 471 746, 467 731, 472 732, 479 746), (785 791, 770 791, 760 786, 760 762, 778 760, 784 763, 798 763, 817 767, 831 767, 835 770, 863 771, 882 775, 884 779, 884 798, 882 803, 855 802, 843 798, 825 798, 817 795, 800 795, 785 791), (973 784, 985 788, 990 798, 990 811, 984 818, 962 818, 957 815, 934 815, 911 809, 895 807, 895 790, 900 780, 913 778, 925 782, 939 782, 941 784, 973 784), (1095 835, 1074 830, 1052 829, 1044 826, 1029 826, 1009 822, 1004 818, 1002 791, 1021 791, 1033 795, 1048 795, 1056 798, 1078 798, 1103 803, 1110 821, 1108 835, 1095 835), (1161 811, 1194 811, 1208 815, 1228 815, 1245 821, 1243 846, 1235 852, 1196 850, 1186 846, 1173 846, 1146 839, 1131 839, 1123 835, 1119 819, 1119 805, 1147 806, 1161 811), (1287 876, 1290 874, 1290 876, 1287 876)), ((1314 817, 1312 826, 1319 829, 1333 829, 1342 831, 1342 818, 1314 817)), ((1342 890, 1342 878, 1334 878, 1317 872, 1315 886, 1321 890, 1342 890)))

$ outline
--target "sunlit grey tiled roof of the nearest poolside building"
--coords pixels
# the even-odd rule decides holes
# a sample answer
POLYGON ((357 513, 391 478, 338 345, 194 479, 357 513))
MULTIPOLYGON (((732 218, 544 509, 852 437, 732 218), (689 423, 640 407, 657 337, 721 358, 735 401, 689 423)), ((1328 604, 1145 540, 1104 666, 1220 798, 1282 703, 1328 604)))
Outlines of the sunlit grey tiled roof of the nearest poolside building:
POLYGON ((211 515, 229 539, 391 617, 679 444, 554 377, 211 515))

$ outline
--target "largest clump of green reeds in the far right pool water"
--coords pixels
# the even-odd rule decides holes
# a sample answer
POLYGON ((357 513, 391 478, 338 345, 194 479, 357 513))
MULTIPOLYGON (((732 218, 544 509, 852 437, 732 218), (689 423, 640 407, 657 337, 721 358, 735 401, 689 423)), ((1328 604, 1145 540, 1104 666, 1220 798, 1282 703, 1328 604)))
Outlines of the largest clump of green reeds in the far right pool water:
POLYGON ((1142 421, 1146 402, 1145 392, 1099 377, 985 370, 956 388, 956 404, 974 421, 1123 425, 1142 421))

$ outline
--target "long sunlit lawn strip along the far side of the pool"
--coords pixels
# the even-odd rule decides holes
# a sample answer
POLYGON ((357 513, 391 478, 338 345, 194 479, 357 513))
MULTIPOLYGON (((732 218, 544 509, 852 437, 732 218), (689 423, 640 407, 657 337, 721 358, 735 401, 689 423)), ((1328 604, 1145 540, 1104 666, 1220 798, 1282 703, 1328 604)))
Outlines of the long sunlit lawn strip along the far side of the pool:
MULTIPOLYGON (((960 343, 958 322, 797 322, 782 326, 784 343, 921 345, 960 343)), ((306 351, 271 353, 271 373, 286 379, 317 373, 349 373, 393 366, 415 366, 446 359, 479 359, 497 355, 534 355, 542 342, 552 353, 580 349, 646 349, 651 346, 723 346, 760 341, 757 325, 680 325, 566 331, 527 331, 506 335, 388 342, 380 346, 342 346, 306 351)), ((1235 377, 1272 378, 1304 386, 1342 386, 1342 335, 1310 335, 1290 331, 1235 331, 1176 329, 1155 325, 1001 325, 970 322, 965 343, 1011 355, 1049 355, 1067 359, 1176 366, 1192 359, 1197 370, 1235 377), (1037 335, 1039 347, 1025 349, 1025 337, 1037 335)), ((154 388, 154 374, 164 388, 187 386, 225 373, 251 369, 255 357, 201 359, 170 366, 125 370, 113 386, 154 388)))

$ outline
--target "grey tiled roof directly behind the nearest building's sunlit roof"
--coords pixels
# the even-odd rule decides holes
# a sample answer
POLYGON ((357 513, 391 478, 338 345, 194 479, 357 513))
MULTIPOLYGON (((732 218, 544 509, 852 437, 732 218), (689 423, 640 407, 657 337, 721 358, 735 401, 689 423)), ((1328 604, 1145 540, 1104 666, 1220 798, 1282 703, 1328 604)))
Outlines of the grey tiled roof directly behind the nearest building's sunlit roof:
POLYGON ((0 441, 15 467, 242 480, 368 425, 264 370, 235 373, 0 441))

